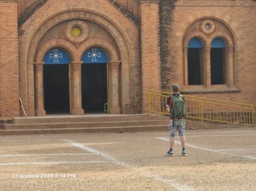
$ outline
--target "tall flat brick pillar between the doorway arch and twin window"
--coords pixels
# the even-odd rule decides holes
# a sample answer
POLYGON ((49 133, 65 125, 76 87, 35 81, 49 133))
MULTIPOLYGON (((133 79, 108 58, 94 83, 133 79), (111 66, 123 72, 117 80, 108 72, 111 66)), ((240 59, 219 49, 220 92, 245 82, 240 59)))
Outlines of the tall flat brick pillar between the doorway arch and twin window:
POLYGON ((158 3, 159 0, 139 0, 143 113, 148 113, 147 90, 161 90, 158 3))

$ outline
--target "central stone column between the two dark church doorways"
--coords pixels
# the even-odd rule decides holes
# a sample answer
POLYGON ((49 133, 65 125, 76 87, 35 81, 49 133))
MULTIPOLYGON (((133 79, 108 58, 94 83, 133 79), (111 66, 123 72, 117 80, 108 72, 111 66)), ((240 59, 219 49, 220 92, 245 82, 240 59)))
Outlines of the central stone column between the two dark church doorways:
POLYGON ((82 109, 82 91, 81 91, 81 62, 70 63, 70 104, 72 115, 83 115, 85 111, 82 109))

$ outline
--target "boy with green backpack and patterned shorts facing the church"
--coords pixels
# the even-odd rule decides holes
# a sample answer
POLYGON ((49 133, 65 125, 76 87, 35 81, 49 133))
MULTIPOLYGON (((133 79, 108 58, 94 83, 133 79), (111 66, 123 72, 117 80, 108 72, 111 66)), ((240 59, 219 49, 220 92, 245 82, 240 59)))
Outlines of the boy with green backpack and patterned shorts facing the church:
POLYGON ((186 114, 185 109, 185 98, 179 94, 179 85, 172 85, 172 96, 168 97, 167 99, 167 111, 171 114, 170 115, 170 124, 169 124, 169 133, 170 133, 170 150, 166 153, 166 156, 172 156, 172 147, 174 144, 174 137, 176 128, 179 130, 179 136, 182 145, 182 156, 186 156, 186 149, 185 149, 185 122, 184 116, 186 114), (183 101, 183 102, 182 102, 183 101))

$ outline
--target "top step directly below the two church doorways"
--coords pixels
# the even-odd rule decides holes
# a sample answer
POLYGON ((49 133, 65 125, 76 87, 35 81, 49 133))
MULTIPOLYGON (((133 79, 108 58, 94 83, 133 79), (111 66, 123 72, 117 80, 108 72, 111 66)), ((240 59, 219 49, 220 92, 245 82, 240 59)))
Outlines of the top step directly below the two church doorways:
POLYGON ((45 117, 27 117, 13 118, 12 124, 41 124, 41 123, 86 123, 86 122, 107 122, 107 121, 146 121, 148 115, 102 115, 102 116, 45 116, 45 117))

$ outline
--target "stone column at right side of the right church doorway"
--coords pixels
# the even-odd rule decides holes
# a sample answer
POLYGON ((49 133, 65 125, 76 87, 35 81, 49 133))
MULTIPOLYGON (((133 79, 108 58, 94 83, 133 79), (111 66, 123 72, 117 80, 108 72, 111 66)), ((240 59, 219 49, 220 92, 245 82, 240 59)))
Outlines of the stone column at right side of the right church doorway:
POLYGON ((121 114, 119 92, 119 65, 121 61, 109 61, 109 114, 121 114))

